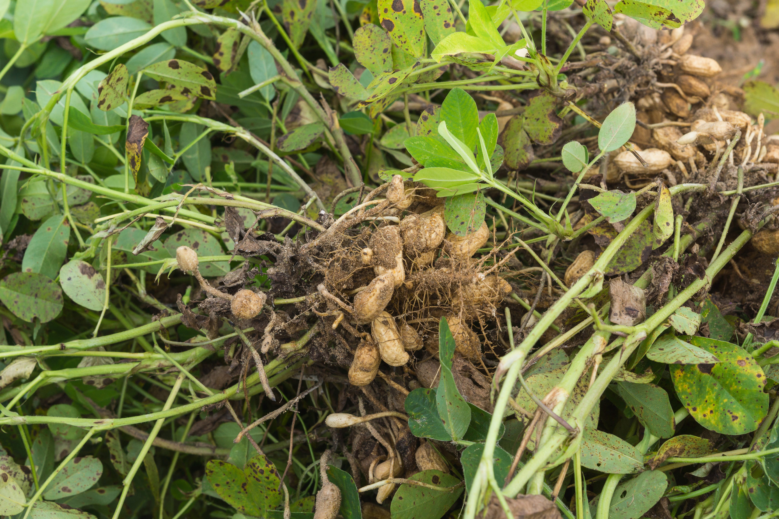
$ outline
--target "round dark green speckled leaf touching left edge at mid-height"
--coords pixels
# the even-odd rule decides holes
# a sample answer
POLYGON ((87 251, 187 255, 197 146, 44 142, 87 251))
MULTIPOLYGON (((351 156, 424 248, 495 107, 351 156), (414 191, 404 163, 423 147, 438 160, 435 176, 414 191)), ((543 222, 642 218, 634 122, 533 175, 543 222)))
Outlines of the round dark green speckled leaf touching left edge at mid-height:
POLYGON ((0 281, 0 301, 22 321, 46 323, 62 310, 62 290, 37 272, 14 272, 0 281))

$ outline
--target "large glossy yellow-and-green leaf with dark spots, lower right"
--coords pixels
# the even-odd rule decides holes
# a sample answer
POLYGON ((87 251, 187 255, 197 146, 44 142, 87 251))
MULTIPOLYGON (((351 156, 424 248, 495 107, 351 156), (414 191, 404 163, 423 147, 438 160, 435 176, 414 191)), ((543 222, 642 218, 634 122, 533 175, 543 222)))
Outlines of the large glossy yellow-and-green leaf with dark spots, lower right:
POLYGON ((676 395, 696 422, 722 434, 757 429, 768 412, 766 376, 744 349, 705 337, 683 337, 720 359, 717 364, 671 365, 676 395))

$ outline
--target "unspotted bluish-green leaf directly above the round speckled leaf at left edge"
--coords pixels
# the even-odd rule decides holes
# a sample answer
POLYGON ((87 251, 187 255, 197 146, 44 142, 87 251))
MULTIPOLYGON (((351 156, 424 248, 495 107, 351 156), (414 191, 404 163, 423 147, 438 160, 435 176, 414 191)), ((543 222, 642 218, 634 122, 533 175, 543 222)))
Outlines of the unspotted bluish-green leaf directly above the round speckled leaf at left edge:
POLYGON ((41 224, 24 252, 22 272, 38 272, 55 279, 68 253, 70 226, 65 216, 51 216, 41 224))

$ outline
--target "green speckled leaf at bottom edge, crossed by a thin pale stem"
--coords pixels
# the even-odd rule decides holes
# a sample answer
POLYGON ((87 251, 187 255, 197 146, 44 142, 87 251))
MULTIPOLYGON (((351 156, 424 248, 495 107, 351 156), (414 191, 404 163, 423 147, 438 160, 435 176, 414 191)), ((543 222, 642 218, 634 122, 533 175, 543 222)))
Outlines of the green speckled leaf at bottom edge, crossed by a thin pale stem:
MULTIPOLYGON (((460 483, 460 480, 454 476, 437 470, 417 472, 409 479, 444 487, 456 486, 460 483)), ((393 497, 390 514, 392 519, 415 519, 419 514, 424 514, 425 519, 440 519, 462 493, 462 487, 452 492, 445 492, 404 483, 393 497)))

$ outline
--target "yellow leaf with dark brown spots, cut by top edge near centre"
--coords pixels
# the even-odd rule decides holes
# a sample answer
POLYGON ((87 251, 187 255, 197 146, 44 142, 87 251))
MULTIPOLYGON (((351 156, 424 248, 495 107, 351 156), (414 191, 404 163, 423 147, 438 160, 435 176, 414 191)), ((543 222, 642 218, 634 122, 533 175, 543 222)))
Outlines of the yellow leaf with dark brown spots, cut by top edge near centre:
POLYGON ((379 20, 393 42, 414 58, 425 57, 425 22, 418 0, 379 0, 379 20))

